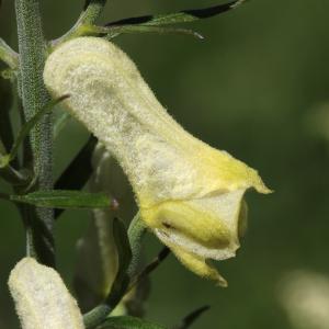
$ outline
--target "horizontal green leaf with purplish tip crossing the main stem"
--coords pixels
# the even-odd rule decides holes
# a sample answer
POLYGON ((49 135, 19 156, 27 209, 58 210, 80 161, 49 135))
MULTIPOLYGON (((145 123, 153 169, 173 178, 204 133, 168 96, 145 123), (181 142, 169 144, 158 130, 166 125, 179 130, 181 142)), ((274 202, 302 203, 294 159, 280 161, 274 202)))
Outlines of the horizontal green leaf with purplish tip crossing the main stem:
POLYGON ((47 208, 105 208, 113 207, 113 201, 105 193, 81 191, 37 191, 25 195, 11 195, 11 201, 47 208))

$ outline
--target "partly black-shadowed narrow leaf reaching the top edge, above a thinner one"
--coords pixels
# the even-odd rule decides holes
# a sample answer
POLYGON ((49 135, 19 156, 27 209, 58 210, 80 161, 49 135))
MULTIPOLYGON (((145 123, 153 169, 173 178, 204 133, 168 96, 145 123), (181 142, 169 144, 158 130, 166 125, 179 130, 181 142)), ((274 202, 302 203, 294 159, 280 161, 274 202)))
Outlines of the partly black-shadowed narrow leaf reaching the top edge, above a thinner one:
POLYGON ((246 0, 235 0, 228 3, 218 4, 204 9, 183 10, 177 13, 145 15, 139 18, 124 19, 106 24, 106 26, 115 25, 168 25, 178 23, 189 23, 197 20, 208 19, 219 15, 226 11, 237 8, 246 2, 246 0))

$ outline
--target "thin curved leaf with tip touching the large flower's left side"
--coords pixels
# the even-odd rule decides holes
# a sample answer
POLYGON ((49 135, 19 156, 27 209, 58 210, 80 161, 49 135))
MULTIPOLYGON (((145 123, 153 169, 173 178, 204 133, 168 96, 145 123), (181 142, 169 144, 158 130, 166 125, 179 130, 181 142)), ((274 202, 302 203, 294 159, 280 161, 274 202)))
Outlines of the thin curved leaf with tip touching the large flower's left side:
POLYGON ((63 102, 69 98, 69 95, 63 95, 56 100, 48 102, 43 109, 41 109, 33 117, 31 117, 21 128, 18 138, 15 139, 11 151, 10 151, 10 160, 13 160, 19 151, 21 144, 23 143, 24 138, 30 134, 33 127, 43 118, 43 116, 52 111, 58 103, 63 102))

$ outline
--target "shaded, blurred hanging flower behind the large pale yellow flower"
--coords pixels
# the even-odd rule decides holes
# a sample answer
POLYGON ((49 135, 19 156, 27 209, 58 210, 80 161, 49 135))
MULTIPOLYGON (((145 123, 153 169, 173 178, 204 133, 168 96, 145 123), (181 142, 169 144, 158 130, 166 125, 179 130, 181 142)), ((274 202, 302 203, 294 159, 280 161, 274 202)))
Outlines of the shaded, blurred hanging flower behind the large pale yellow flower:
MULTIPOLYGON (((93 209, 88 231, 78 242, 75 283, 80 307, 86 310, 104 300, 116 276, 114 218, 131 219, 136 212, 132 189, 122 168, 101 143, 94 148, 92 168, 90 192, 106 192, 117 200, 118 207, 93 209)), ((120 305, 121 310, 125 309, 123 304, 120 305)))

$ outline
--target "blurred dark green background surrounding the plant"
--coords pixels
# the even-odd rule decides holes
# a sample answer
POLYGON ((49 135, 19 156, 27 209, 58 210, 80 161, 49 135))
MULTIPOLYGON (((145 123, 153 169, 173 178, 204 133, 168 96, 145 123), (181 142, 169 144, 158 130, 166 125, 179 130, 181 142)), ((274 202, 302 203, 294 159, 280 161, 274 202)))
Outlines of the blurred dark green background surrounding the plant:
MULTIPOLYGON (((0 36, 15 47, 13 1, 2 2, 0 36)), ((49 38, 66 32, 82 7, 82 1, 41 2, 49 38)), ((111 0, 103 18, 109 22, 214 2, 111 0)), ((172 35, 115 39, 188 131, 257 168, 275 190, 271 195, 248 193, 242 248, 237 258, 218 263, 229 287, 215 287, 170 257, 152 274, 149 319, 173 325, 206 304, 212 308, 194 329, 292 328, 277 298, 282 276, 295 269, 329 275, 328 12, 328 0, 254 0, 191 25, 205 36, 203 42, 172 35)), ((56 143, 56 174, 86 138, 78 124, 63 133, 56 143)), ((0 191, 7 190, 0 181, 0 191)), ((56 227, 59 271, 68 285, 75 245, 88 218, 86 212, 67 212, 56 227)), ((14 207, 2 201, 0 241, 0 328, 15 328, 7 280, 24 254, 24 234, 14 207)), ((159 248, 148 237, 148 258, 159 248)))

